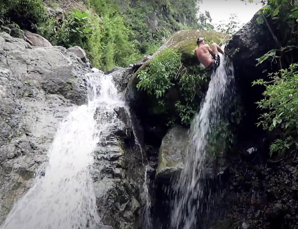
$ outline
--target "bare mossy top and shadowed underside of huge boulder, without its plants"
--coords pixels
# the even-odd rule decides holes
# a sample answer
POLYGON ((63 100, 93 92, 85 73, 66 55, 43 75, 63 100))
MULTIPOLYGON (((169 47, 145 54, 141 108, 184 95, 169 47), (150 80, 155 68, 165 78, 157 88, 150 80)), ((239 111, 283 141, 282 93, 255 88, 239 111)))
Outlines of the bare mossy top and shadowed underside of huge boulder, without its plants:
MULTIPOLYGON (((177 111, 176 103, 179 101, 182 105, 186 105, 186 99, 183 95, 184 92, 179 84, 179 77, 175 77, 175 82, 164 94, 164 104, 160 105, 160 101, 154 95, 149 95, 144 90, 138 90, 137 84, 139 78, 137 77, 141 70, 145 70, 150 66, 150 63, 158 57, 168 51, 168 49, 174 49, 181 54, 181 62, 183 67, 182 72, 186 69, 187 74, 193 74, 195 76, 201 75, 201 81, 195 85, 198 90, 194 94, 192 99, 195 101, 196 106, 199 106, 202 100, 202 95, 207 90, 208 81, 204 79, 206 70, 201 67, 198 58, 194 55, 194 49, 197 46, 196 40, 198 37, 205 37, 206 43, 225 43, 228 40, 229 35, 215 32, 215 31, 203 31, 203 30, 181 30, 174 33, 165 43, 156 51, 152 56, 147 57, 147 60, 140 66, 140 68, 131 76, 125 89, 125 98, 130 103, 133 111, 140 118, 142 126, 145 131, 146 139, 148 139, 148 145, 159 146, 162 137, 167 133, 167 123, 170 120, 179 123, 181 120, 181 114, 177 111), (180 115, 180 116, 179 116, 180 115)), ((170 54, 169 54, 170 55, 170 54)), ((179 70, 177 70, 179 72, 179 70)))

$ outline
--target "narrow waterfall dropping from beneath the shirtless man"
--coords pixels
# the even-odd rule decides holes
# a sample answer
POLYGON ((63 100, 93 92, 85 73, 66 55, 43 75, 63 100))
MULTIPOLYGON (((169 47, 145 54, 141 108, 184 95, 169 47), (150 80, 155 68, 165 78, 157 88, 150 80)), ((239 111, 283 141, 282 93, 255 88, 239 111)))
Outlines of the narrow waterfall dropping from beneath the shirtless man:
POLYGON ((175 187, 177 197, 171 214, 171 226, 175 229, 196 228, 198 211, 202 204, 199 198, 203 192, 199 180, 206 175, 205 162, 210 126, 220 120, 228 86, 234 78, 234 70, 228 59, 221 54, 220 58, 220 66, 211 76, 200 112, 195 115, 191 124, 187 157, 175 187))

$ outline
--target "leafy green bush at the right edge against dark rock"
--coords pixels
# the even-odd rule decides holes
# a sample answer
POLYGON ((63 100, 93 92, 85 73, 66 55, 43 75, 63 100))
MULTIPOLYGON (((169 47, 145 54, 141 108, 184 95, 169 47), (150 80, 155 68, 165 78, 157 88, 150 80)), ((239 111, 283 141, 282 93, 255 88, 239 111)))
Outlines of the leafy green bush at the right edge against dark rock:
MULTIPOLYGON (((272 81, 259 79, 253 85, 264 85, 264 99, 257 102, 258 107, 266 109, 260 122, 265 130, 283 129, 282 139, 276 140, 270 148, 270 154, 283 153, 298 140, 298 64, 291 64, 288 69, 270 73, 272 81)), ((297 144, 297 143, 296 143, 297 144)))

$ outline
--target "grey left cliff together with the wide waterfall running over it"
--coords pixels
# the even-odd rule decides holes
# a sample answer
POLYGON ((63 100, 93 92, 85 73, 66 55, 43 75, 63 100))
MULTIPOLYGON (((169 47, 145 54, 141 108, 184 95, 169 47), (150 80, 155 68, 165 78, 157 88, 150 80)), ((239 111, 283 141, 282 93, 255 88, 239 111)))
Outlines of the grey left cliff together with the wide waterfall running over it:
MULTIPOLYGON (((82 60, 63 47, 32 47, 0 33, 0 223, 27 192, 2 228, 92 228, 97 221, 114 229, 142 225, 142 128, 134 126, 136 117, 119 97, 116 102, 108 99, 117 92, 111 76, 93 73, 93 79, 105 82, 97 88, 105 93, 100 106, 74 108, 87 99, 88 72, 82 60), (88 117, 80 117, 82 112, 88 117), (92 136, 92 130, 97 135, 92 136), (95 152, 88 156, 93 146, 95 152), (30 203, 29 211, 23 203, 30 203), (38 220, 30 221, 32 217, 38 220)), ((89 95, 96 88, 92 83, 89 95)))

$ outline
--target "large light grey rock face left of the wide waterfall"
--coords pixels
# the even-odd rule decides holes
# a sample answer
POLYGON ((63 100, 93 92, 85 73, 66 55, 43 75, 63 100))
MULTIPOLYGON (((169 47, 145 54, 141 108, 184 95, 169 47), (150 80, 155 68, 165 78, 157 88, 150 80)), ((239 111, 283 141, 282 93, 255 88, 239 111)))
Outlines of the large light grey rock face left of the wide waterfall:
POLYGON ((60 120, 85 103, 87 72, 63 47, 0 33, 0 224, 46 161, 60 120))

